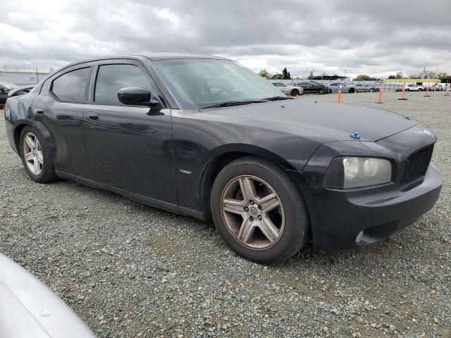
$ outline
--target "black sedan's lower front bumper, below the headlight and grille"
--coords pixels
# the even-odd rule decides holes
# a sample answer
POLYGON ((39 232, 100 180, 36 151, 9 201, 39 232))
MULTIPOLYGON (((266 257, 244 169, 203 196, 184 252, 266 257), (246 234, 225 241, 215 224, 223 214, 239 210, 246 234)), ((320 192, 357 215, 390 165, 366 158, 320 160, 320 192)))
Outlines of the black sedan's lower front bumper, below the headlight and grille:
POLYGON ((323 212, 313 229, 314 246, 322 251, 352 249, 390 237, 429 211, 441 187, 442 177, 431 163, 423 182, 407 192, 388 187, 371 194, 369 189, 325 189, 323 212))

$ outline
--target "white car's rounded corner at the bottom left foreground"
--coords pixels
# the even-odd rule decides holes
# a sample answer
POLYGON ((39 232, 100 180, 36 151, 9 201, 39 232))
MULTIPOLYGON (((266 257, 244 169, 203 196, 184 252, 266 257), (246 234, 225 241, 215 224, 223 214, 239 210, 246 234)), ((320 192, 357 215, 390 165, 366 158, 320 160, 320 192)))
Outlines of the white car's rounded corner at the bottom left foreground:
POLYGON ((95 338, 44 283, 0 253, 0 337, 95 338))

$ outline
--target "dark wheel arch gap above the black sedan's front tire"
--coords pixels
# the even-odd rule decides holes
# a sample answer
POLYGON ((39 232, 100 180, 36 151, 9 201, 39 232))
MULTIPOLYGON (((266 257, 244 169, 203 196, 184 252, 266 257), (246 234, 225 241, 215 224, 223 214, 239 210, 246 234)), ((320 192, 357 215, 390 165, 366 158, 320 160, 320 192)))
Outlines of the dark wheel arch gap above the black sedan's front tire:
MULTIPOLYGON (((210 211, 210 194, 211 187, 213 187, 214 180, 218 173, 228 165, 228 163, 247 156, 254 156, 263 160, 275 163, 284 170, 295 170, 295 168, 284 158, 278 156, 272 151, 254 145, 228 145, 220 147, 214 151, 209 161, 204 165, 202 175, 200 178, 199 196, 202 211, 206 219, 211 219, 210 211)), ((301 192, 302 193, 302 192, 301 192)))

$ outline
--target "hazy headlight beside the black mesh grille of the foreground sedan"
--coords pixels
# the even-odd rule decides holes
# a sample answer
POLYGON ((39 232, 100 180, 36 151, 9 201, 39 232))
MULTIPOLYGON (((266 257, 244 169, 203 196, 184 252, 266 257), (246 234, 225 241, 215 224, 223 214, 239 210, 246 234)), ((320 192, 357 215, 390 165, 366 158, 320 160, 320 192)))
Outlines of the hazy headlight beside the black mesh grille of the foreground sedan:
POLYGON ((391 182, 392 165, 383 158, 338 157, 327 170, 324 186, 334 189, 361 188, 391 182))

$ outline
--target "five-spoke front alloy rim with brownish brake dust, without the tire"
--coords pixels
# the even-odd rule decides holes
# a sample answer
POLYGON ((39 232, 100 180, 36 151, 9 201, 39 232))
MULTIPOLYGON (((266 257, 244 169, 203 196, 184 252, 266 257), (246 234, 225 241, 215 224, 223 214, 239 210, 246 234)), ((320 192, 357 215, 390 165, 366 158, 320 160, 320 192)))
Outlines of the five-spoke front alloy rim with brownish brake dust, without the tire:
POLYGON ((285 227, 280 198, 255 176, 239 176, 228 182, 221 196, 221 214, 228 232, 249 249, 271 248, 285 227))

